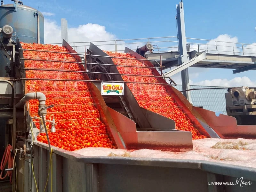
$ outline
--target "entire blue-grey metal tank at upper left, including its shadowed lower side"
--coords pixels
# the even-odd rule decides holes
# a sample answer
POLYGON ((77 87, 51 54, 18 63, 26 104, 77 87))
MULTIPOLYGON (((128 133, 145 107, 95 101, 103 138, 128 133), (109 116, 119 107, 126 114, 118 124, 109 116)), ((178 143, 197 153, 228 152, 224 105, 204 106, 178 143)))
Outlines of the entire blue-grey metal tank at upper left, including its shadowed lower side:
MULTIPOLYGON (((21 1, 12 1, 14 1, 14 4, 6 5, 4 1, 1 1, 0 28, 6 25, 11 26, 20 42, 40 42, 40 44, 44 44, 43 14, 34 8, 23 5, 21 1), (39 31, 39 33, 37 33, 37 31, 39 31)), ((13 35, 15 36, 15 34, 13 35)), ((0 37, 0 40, 4 38, 2 35, 0 37)), ((4 43, 1 41, 1 44, 4 43)), ((11 60, 10 50, 7 52, 5 46, 0 46, 0 77, 9 77, 8 71, 11 67, 11 60)))

